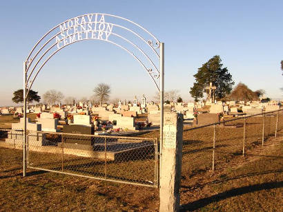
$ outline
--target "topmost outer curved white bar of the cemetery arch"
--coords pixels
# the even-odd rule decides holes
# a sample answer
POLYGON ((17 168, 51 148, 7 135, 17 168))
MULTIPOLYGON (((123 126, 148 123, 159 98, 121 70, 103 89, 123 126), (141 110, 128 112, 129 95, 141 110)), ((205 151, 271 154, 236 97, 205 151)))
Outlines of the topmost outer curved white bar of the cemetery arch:
MULTIPOLYGON (((88 15, 90 15, 90 14, 92 14, 92 15, 93 15, 93 14, 106 15, 106 16, 109 16, 109 17, 115 17, 115 18, 117 18, 117 19, 122 19, 122 20, 128 21, 128 22, 130 22, 130 23, 133 23, 134 25, 137 25, 137 27, 141 28, 142 30, 144 30, 145 32, 147 32, 148 34, 150 34, 150 36, 152 36, 152 37, 155 39, 155 41, 157 41, 157 42, 160 44, 160 41, 159 41, 153 34, 151 34, 148 30, 146 30, 145 28, 143 28, 141 25, 139 25, 139 24, 137 24, 137 23, 135 23, 135 22, 133 22, 133 21, 130 21, 129 19, 125 19, 125 18, 123 18, 123 17, 118 17, 118 16, 115 16, 115 15, 113 15, 113 14, 106 14, 106 13, 88 13, 88 14, 80 15, 80 16, 78 16, 78 17, 73 17, 72 19, 76 19, 76 18, 88 16, 88 15)), ((26 61, 28 61, 28 60, 30 59, 30 55, 31 55, 32 52, 35 50, 35 47, 37 47, 37 45, 38 45, 50 32, 52 32, 53 30, 55 30, 56 28, 58 28, 61 24, 67 23, 68 21, 70 21, 70 20, 72 20, 72 19, 68 19, 68 20, 66 20, 66 21, 64 21, 64 22, 61 22, 61 23, 59 23, 58 25, 56 25, 54 28, 52 28, 51 30, 49 30, 48 32, 46 32, 46 34, 44 34, 44 35, 41 37, 41 39, 39 39, 39 41, 37 41, 37 43, 35 44, 35 46, 32 47, 32 50, 30 51, 30 54, 28 54, 28 57, 27 57, 26 61)), ((151 46, 151 45, 150 45, 150 46, 151 46)), ((158 45, 158 47, 159 47, 159 45, 158 45)), ((157 48, 158 48, 158 47, 157 47, 157 48)))

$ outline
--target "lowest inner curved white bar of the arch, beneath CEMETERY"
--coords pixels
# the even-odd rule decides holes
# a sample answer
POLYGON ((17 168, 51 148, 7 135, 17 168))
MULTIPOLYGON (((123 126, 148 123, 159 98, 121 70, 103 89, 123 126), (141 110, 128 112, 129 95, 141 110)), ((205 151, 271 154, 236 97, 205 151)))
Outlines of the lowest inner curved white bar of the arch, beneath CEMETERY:
MULTIPOLYGON (((89 40, 89 39, 81 39, 81 40, 79 40, 79 41, 86 41, 86 40, 89 40)), ((97 39, 92 39, 92 40, 97 40, 97 39)), ((101 40, 101 41, 106 41, 106 40, 101 40)), ((77 42, 78 42, 78 41, 75 41, 75 42, 72 42, 72 43, 77 43, 77 42)), ((121 47, 123 50, 126 50, 126 52, 128 52, 130 55, 132 55, 132 56, 142 65, 142 67, 144 67, 144 69, 148 72, 148 70, 147 70, 146 66, 144 65, 144 63, 142 63, 142 61, 140 61, 140 60, 137 58, 137 56, 135 56, 135 54, 133 54, 132 52, 130 52, 130 51, 129 51, 128 49, 126 49, 125 47, 123 47, 123 46, 121 46, 121 45, 119 45, 119 44, 117 44, 117 43, 114 43, 113 41, 106 41, 106 42, 108 42, 108 43, 113 43, 114 45, 117 45, 118 47, 121 47)), ((68 46, 68 45, 70 45, 70 44, 72 44, 72 43, 68 43, 68 44, 64 45, 63 47, 59 48, 58 50, 56 50, 55 52, 53 52, 53 53, 48 57, 48 59, 46 59, 46 61, 44 61, 44 63, 41 65, 41 67, 39 67, 39 70, 37 70, 37 74, 35 74, 35 76, 32 78, 32 81, 31 81, 31 83, 30 83, 30 86, 28 86, 28 90, 27 90, 27 92, 26 92, 26 98, 28 98, 28 92, 30 92, 30 88, 32 87, 32 84, 35 82, 35 78, 37 78, 37 75, 39 74, 39 72, 40 72, 40 70, 42 69, 42 67, 51 59, 51 57, 52 57, 53 55, 55 55, 57 52, 59 52, 59 50, 63 49, 64 47, 66 47, 66 46, 68 46)), ((148 73, 148 74, 149 74, 149 73, 148 73)), ((150 74, 149 74, 149 76, 152 78, 153 83, 155 83, 155 86, 157 87, 157 89, 158 89, 158 91, 159 91, 159 87, 158 87, 157 83, 155 82, 153 76, 151 76, 150 74)))

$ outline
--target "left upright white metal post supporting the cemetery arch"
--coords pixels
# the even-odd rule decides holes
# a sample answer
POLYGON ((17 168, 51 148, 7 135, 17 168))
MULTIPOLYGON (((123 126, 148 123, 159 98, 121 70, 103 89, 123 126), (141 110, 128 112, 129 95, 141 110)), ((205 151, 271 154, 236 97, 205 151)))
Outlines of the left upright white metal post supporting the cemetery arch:
POLYGON ((23 177, 26 177, 27 151, 26 151, 26 61, 23 62, 23 177))

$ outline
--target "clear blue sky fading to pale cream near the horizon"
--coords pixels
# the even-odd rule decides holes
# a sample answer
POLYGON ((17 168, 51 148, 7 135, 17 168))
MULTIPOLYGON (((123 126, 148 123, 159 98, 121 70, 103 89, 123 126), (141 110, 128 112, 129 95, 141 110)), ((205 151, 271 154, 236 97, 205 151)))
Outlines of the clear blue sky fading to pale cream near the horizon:
MULTIPOLYGON (((283 98, 283 1, 2 1, 0 6, 0 105, 12 105, 22 88, 23 61, 52 27, 81 14, 103 12, 135 21, 165 43, 165 89, 190 100, 193 74, 219 54, 235 83, 283 98)), ((102 41, 84 41, 61 50, 39 74, 32 89, 57 89, 89 97, 108 83, 112 98, 148 99, 155 85, 126 52, 102 41)))

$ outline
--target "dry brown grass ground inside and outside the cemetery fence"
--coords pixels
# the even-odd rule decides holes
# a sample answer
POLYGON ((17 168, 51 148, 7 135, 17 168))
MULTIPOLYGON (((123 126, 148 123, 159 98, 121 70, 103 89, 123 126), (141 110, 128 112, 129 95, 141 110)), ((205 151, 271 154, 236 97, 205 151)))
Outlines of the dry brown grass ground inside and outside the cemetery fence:
MULTIPOLYGON (((0 116, 1 123, 9 122, 1 120, 2 117, 8 119, 0 116)), ((279 116, 277 138, 274 138, 276 116, 264 117, 264 126, 262 121, 262 116, 246 118, 244 157, 244 119, 232 120, 225 126, 184 127, 180 191, 184 211, 282 211, 283 114, 279 116)), ((143 136, 157 138, 159 131, 143 136)), ((35 161, 42 161, 41 153, 32 154, 35 161)), ((45 155, 44 160, 50 162, 54 158, 45 155)), ((121 169, 115 170, 121 175, 130 170, 139 178, 150 178, 152 171, 146 171, 143 160, 124 161, 121 169)), ((28 169, 28 177, 22 178, 21 165, 21 150, 0 147, 0 211, 159 209, 155 188, 35 169, 28 169)))

